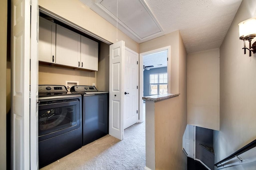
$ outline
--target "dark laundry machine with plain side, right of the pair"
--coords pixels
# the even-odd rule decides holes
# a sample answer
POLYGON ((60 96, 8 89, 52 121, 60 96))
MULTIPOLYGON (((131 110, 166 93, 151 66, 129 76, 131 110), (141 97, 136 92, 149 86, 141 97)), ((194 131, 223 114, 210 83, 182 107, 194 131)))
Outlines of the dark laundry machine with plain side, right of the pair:
POLYGON ((72 86, 82 94, 83 146, 108 134, 108 94, 95 86, 72 86))

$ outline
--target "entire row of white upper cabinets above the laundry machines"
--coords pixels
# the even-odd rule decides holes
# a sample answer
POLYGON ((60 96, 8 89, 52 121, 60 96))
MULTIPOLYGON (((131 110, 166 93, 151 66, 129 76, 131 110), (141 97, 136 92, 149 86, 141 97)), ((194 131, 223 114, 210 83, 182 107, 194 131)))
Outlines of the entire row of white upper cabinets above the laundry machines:
POLYGON ((98 71, 98 43, 52 21, 39 20, 39 61, 98 71))

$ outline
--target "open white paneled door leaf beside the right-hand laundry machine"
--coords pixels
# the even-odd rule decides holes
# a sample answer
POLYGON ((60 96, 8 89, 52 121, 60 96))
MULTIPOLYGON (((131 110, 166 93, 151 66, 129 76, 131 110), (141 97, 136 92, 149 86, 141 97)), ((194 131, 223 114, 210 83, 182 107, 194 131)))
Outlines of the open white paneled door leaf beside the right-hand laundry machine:
POLYGON ((123 140, 123 56, 124 41, 110 45, 109 59, 109 135, 123 140))

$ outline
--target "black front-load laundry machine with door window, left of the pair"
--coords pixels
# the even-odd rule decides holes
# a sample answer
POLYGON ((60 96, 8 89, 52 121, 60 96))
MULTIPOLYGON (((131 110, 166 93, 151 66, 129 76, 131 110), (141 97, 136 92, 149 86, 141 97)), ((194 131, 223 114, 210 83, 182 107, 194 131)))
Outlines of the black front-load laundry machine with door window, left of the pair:
POLYGON ((38 86, 38 156, 42 168, 82 147, 82 96, 65 86, 38 86))

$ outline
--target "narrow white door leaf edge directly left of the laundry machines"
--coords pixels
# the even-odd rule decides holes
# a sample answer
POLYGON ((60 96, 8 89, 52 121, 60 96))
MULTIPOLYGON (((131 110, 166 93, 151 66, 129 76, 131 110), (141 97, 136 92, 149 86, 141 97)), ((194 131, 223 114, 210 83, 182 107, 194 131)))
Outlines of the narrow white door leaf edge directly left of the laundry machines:
POLYGON ((30 169, 38 170, 38 0, 31 5, 31 54, 30 54, 30 169))

